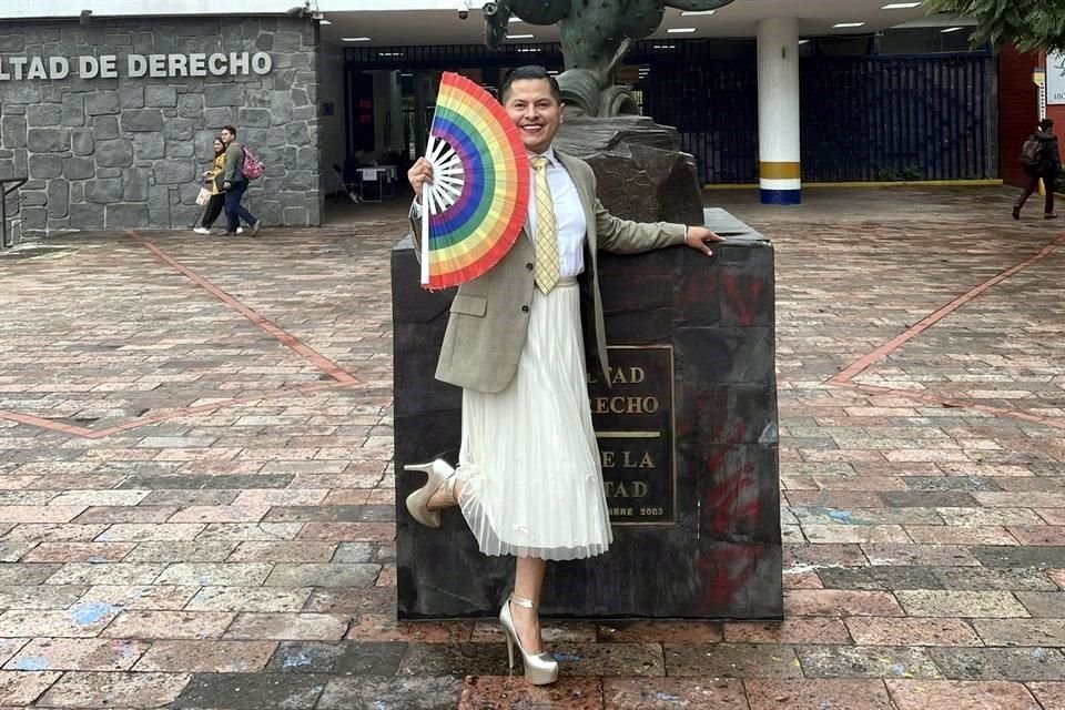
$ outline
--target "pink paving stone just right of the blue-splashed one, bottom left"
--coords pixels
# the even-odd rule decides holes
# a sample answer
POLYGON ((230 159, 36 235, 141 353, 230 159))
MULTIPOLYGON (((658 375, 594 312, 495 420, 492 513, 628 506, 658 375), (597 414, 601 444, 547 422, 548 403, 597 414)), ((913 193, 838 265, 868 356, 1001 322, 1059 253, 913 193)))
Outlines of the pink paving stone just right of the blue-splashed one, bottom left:
POLYGON ((254 673, 266 666, 276 641, 156 641, 135 670, 254 673))

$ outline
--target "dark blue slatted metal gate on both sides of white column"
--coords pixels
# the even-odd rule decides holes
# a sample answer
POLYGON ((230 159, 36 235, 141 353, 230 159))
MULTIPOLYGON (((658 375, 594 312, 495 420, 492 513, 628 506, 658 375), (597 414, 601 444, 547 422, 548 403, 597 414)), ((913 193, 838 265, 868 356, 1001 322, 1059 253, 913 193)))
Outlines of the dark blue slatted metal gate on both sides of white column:
MULTIPOLYGON (((680 130, 703 183, 758 182, 754 61, 650 64, 648 114, 680 130)), ((802 60, 802 178, 807 182, 996 176, 984 53, 802 60)))

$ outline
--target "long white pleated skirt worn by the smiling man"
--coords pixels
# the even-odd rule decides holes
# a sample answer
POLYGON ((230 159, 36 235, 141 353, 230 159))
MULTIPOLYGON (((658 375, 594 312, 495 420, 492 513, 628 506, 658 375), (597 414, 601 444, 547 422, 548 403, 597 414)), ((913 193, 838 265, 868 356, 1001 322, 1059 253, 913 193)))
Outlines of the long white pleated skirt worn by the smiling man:
POLYGON ((575 281, 532 296, 518 371, 498 394, 463 392, 463 515, 485 555, 545 560, 613 540, 591 425, 575 281))

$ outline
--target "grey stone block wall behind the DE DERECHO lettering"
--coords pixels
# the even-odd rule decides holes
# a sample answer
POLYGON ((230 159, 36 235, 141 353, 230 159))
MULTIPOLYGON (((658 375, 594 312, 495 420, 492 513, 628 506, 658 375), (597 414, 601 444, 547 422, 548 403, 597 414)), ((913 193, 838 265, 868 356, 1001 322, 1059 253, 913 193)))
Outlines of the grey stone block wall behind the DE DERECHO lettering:
POLYGON ((3 71, 17 57, 63 57, 71 65, 64 79, 0 81, 0 178, 30 178, 20 190, 22 233, 187 227, 199 213, 199 175, 225 124, 266 163, 245 205, 264 224, 318 224, 317 50, 312 21, 294 18, 0 22, 3 71), (130 54, 215 52, 265 52, 271 69, 169 78, 125 71, 130 54), (108 54, 118 58, 118 78, 78 75, 77 58, 108 54))

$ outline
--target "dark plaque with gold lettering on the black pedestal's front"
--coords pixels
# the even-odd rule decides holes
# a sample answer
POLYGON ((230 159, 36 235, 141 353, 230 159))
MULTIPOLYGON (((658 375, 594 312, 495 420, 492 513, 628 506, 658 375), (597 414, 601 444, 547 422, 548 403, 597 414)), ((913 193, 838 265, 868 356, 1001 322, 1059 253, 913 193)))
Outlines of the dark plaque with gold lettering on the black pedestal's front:
POLYGON ((613 525, 672 525, 673 348, 620 345, 610 352, 610 386, 588 378, 607 507, 613 525))

